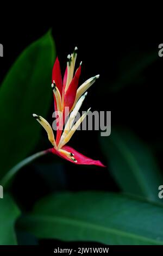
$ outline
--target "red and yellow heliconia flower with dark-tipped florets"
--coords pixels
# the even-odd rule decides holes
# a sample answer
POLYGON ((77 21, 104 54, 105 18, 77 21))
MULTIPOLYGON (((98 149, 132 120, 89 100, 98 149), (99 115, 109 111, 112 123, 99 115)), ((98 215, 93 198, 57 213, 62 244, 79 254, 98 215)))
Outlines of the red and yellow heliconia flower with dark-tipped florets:
POLYGON ((73 125, 77 113, 82 106, 85 96, 87 95, 86 90, 99 77, 99 75, 91 77, 78 88, 82 62, 80 62, 80 65, 74 74, 77 50, 77 47, 75 47, 74 52, 71 55, 69 54, 67 56, 67 67, 63 82, 58 57, 55 60, 53 66, 52 89, 54 94, 54 107, 55 112, 59 113, 56 140, 51 125, 40 115, 33 114, 33 117, 35 117, 36 120, 46 130, 48 139, 53 145, 53 148, 48 149, 49 152, 76 164, 95 164, 97 166, 104 167, 104 165, 100 161, 92 160, 89 157, 80 154, 78 151, 66 145, 67 142, 70 141, 73 133, 78 129, 79 125, 86 117, 87 112, 89 112, 90 110, 89 108, 87 112, 84 113, 82 117, 80 117, 73 125), (69 109, 67 114, 65 109, 69 109), (68 117, 68 115, 69 118, 66 122, 66 117, 68 117))

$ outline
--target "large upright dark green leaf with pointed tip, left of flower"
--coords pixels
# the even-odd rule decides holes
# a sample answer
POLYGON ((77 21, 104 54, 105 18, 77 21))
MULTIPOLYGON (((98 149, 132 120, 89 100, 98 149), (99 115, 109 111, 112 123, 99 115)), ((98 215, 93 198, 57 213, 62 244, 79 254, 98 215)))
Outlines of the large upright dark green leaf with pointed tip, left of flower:
POLYGON ((46 117, 51 105, 54 50, 51 32, 48 32, 22 52, 2 83, 1 177, 26 157, 39 140, 41 126, 32 114, 46 117))

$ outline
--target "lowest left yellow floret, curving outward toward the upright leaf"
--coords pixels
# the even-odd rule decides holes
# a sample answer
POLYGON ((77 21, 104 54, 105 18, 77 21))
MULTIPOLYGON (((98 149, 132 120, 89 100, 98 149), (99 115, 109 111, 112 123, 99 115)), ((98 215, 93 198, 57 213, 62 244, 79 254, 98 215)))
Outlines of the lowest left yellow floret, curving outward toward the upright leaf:
POLYGON ((49 125, 49 123, 47 122, 47 120, 45 120, 43 117, 41 117, 40 115, 36 115, 33 114, 33 117, 36 118, 36 120, 42 125, 42 127, 46 130, 47 135, 48 135, 48 139, 49 141, 52 143, 52 145, 54 146, 54 148, 57 148, 57 145, 55 143, 55 138, 54 138, 54 133, 52 130, 51 125, 49 125))

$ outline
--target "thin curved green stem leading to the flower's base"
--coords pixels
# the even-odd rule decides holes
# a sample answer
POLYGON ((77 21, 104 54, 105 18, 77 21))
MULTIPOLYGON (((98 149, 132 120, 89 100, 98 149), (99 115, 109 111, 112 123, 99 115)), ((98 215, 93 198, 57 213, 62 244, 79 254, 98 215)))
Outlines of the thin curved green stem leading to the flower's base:
POLYGON ((10 179, 18 172, 18 170, 20 170, 22 167, 26 166, 30 162, 34 161, 38 157, 40 157, 42 155, 46 155, 47 153, 49 153, 48 149, 40 151, 40 152, 38 152, 38 153, 36 153, 36 154, 34 154, 32 156, 27 157, 26 159, 22 160, 21 162, 17 163, 16 166, 12 167, 9 170, 9 172, 4 175, 4 177, 0 181, 0 184, 3 187, 5 187, 8 184, 8 182, 10 181, 10 179))

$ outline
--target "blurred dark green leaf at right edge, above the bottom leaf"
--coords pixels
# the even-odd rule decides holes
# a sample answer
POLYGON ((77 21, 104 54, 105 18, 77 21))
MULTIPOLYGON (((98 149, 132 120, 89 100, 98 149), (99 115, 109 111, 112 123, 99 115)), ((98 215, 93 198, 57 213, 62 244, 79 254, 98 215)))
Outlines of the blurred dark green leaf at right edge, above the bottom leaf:
POLYGON ((124 192, 160 200, 162 175, 145 143, 129 130, 112 129, 109 137, 101 137, 101 145, 109 170, 124 192))

